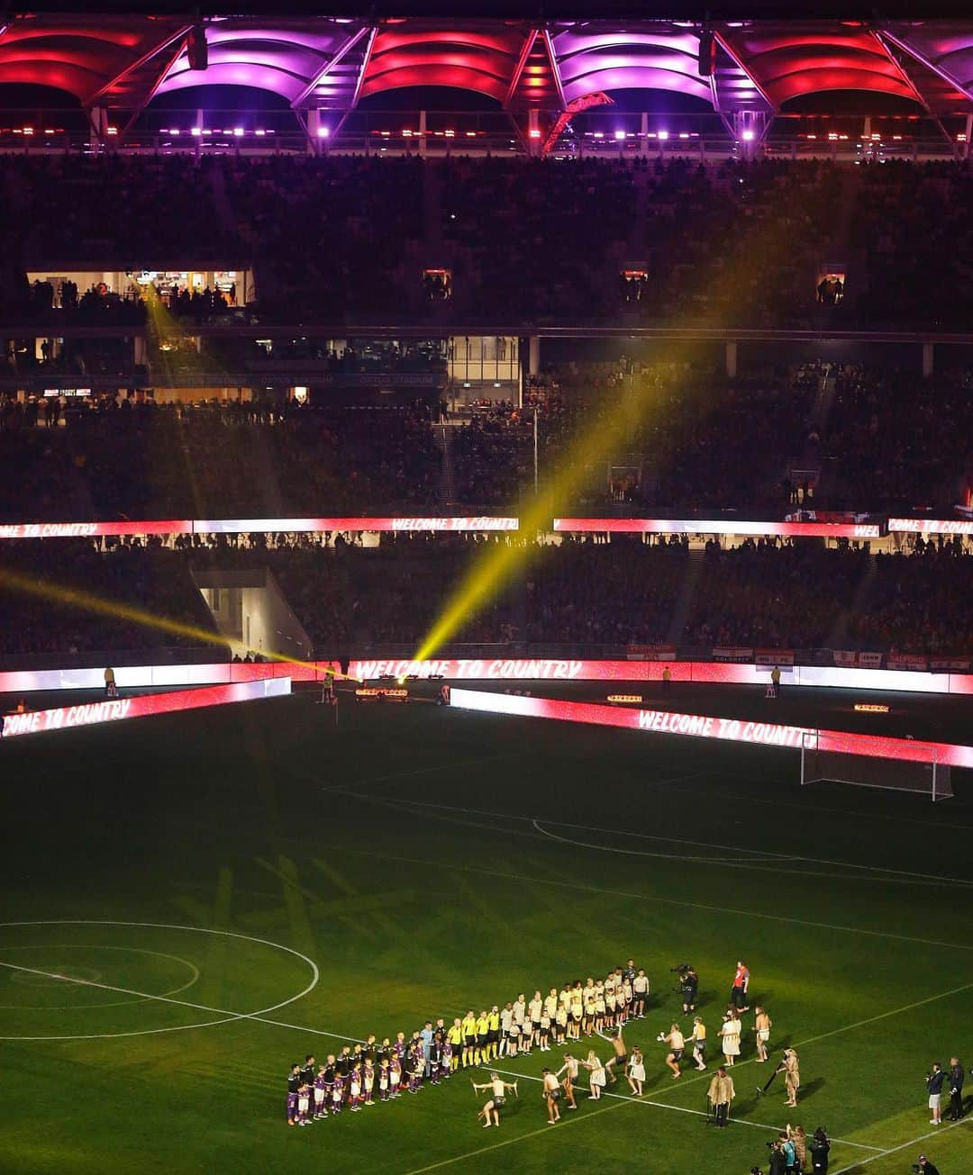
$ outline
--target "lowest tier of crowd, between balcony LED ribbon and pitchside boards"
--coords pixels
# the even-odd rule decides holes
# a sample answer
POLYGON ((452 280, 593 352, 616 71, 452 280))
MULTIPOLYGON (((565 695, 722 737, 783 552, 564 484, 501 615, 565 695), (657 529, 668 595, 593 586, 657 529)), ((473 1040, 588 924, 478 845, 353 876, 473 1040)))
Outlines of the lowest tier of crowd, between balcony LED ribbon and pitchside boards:
POLYGON ((677 536, 537 545, 516 535, 428 532, 384 535, 377 546, 353 535, 6 540, 0 653, 202 646, 202 632, 214 625, 193 571, 267 569, 316 656, 383 649, 409 656, 497 543, 529 545, 530 557, 454 642, 535 654, 570 645, 617 656, 659 644, 704 652, 729 645, 973 654, 973 555, 960 540, 920 540, 908 553, 872 557, 864 548, 824 549, 813 540, 747 540, 732 549, 711 540, 705 551, 690 551, 677 536), (62 589, 101 606, 92 611, 62 589), (190 629, 146 626, 115 605, 190 629))

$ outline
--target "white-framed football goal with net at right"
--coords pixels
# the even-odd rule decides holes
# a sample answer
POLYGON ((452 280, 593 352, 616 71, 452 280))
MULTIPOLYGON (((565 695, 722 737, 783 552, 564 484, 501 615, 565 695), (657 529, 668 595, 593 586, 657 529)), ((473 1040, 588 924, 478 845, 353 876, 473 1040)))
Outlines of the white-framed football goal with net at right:
POLYGON ((937 800, 953 794, 947 764, 937 761, 937 748, 924 743, 908 744, 908 758, 886 758, 831 750, 831 740, 818 731, 807 731, 800 748, 801 784, 834 783, 858 787, 884 787, 917 792, 937 800))

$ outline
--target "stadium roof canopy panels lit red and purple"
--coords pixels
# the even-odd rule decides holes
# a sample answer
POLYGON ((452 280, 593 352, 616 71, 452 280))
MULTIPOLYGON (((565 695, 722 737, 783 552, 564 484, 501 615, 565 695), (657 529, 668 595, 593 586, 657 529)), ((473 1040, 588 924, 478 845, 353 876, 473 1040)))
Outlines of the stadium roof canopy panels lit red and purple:
POLYGON ((722 114, 864 92, 940 115, 973 110, 973 18, 848 20, 502 20, 33 12, 0 24, 0 83, 139 110, 156 94, 247 86, 295 109, 354 109, 403 87, 454 87, 511 110, 597 92, 692 95, 722 114))

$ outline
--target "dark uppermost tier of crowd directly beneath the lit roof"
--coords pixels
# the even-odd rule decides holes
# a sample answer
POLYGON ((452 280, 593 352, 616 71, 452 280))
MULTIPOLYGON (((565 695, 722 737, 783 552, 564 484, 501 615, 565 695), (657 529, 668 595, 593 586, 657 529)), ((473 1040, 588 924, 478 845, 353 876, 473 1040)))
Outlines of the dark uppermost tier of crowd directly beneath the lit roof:
MULTIPOLYGON (((96 270, 249 266, 262 322, 622 314, 964 329, 971 212, 968 164, 947 162, 848 177, 830 160, 7 155, 0 315, 47 316, 52 300, 22 274, 74 258, 96 270), (836 249, 848 253, 847 278, 821 296, 818 267, 836 249), (624 280, 633 266, 645 276, 624 280)), ((183 291, 170 309, 197 318, 224 301, 235 298, 183 291)), ((98 289, 68 291, 58 310, 115 324, 142 313, 98 289)))

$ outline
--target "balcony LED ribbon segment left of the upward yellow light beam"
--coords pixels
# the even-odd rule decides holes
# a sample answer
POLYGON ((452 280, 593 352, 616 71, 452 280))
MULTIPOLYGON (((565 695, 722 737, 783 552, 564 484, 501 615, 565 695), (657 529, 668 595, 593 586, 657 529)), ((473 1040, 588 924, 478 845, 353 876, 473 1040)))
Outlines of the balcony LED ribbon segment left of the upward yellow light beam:
POLYGON ((515 531, 516 518, 175 518, 162 522, 21 522, 0 525, 0 538, 96 538, 101 535, 239 535, 333 530, 515 531))

